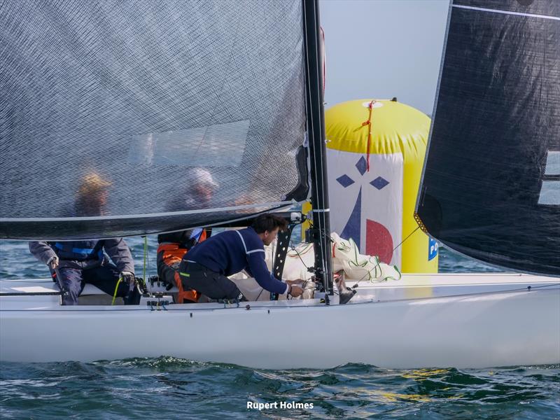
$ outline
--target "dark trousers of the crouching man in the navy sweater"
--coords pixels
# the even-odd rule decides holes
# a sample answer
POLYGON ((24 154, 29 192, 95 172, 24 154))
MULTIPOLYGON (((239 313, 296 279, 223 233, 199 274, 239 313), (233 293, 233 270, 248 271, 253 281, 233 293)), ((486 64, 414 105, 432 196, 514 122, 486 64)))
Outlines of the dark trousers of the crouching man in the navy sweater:
POLYGON ((234 300, 239 297, 239 289, 233 281, 196 262, 181 261, 179 275, 183 288, 197 290, 210 299, 234 300))

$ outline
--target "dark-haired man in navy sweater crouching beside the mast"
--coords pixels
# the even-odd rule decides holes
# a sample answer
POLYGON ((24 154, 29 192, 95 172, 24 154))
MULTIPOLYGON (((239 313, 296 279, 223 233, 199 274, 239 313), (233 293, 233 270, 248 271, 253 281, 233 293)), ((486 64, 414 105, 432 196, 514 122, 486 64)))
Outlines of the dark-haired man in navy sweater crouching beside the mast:
POLYGON ((265 245, 286 229, 286 221, 273 214, 261 214, 251 228, 229 230, 192 248, 179 265, 185 290, 193 289, 211 299, 234 300, 239 289, 227 276, 245 270, 262 288, 279 295, 299 296, 302 288, 276 279, 265 262, 265 245))

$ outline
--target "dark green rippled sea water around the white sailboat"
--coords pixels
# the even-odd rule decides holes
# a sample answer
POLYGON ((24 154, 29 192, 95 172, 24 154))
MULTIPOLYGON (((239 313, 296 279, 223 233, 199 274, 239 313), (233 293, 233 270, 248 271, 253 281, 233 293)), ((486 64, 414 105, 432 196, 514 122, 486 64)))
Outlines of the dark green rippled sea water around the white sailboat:
MULTIPOLYGON (((141 275, 141 240, 127 241, 141 275)), ((149 255, 155 255, 154 244, 152 238, 149 255)), ((474 271, 496 269, 442 250, 440 272, 474 271)), ((148 262, 148 274, 155 274, 155 261, 148 262)), ((2 278, 47 275, 29 255, 27 243, 0 241, 2 278)), ((560 365, 389 370, 351 364, 329 370, 254 370, 165 357, 0 363, 1 419, 296 417, 560 419, 560 365), (307 402, 313 408, 258 412, 247 409, 248 401, 307 402)))

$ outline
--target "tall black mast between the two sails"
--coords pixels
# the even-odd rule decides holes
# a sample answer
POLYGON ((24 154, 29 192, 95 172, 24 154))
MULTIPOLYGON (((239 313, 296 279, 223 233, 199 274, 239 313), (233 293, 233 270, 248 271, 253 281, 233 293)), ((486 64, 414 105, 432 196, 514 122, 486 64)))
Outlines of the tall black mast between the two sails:
POLYGON ((316 279, 322 281, 325 295, 332 294, 332 257, 323 109, 323 71, 318 0, 302 0, 304 60, 306 75, 307 134, 311 162, 311 207, 316 279))

